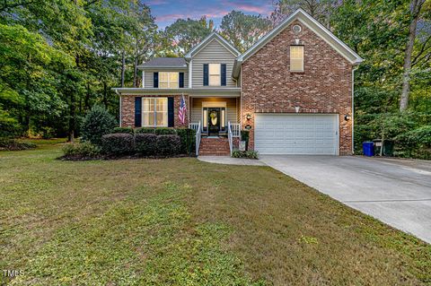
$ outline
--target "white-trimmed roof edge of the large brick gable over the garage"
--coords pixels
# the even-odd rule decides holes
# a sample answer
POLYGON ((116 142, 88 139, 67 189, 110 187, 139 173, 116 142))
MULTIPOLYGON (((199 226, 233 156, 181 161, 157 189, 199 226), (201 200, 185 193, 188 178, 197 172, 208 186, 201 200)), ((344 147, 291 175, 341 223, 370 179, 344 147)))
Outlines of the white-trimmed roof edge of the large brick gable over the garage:
POLYGON ((242 62, 245 62, 250 56, 254 55, 260 48, 265 46, 271 39, 276 37, 282 30, 285 30, 292 22, 298 20, 303 23, 310 30, 314 31, 321 39, 325 40, 330 47, 334 48, 339 52, 341 56, 344 56, 347 61, 353 65, 357 65, 363 61, 362 57, 357 55, 356 52, 349 48, 345 43, 343 43, 339 38, 337 38, 332 32, 326 29, 320 22, 317 22, 309 13, 303 11, 299 8, 289 17, 287 17, 283 22, 279 23, 273 30, 270 30, 268 34, 260 38, 251 48, 247 49, 241 56, 235 61, 235 67, 233 68, 233 76, 237 77, 239 74, 242 62))

